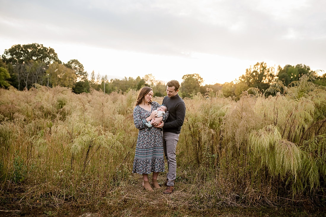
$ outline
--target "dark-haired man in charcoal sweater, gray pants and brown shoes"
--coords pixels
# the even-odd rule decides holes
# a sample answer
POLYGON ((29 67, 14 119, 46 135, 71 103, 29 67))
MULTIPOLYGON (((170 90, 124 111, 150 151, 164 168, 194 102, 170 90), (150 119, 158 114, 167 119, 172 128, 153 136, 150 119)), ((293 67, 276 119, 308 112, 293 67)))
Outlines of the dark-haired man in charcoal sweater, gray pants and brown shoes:
MULTIPOLYGON (((177 161, 175 150, 185 120, 185 102, 178 94, 180 84, 176 80, 169 81, 166 88, 167 96, 162 104, 169 111, 168 119, 163 126, 163 149, 168 161, 167 188, 163 194, 171 194, 174 190, 174 180, 177 177, 177 161)), ((159 126, 161 127, 161 126, 159 126)))

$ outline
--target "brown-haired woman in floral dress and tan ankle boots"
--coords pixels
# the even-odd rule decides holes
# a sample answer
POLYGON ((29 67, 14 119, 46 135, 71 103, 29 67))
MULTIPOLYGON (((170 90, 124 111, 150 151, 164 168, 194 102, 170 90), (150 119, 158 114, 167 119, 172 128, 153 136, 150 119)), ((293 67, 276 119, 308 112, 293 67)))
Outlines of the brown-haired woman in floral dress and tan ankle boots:
POLYGON ((165 121, 169 115, 166 112, 162 117, 156 117, 156 109, 159 104, 152 102, 152 97, 152 88, 141 88, 134 108, 134 124, 139 129, 139 133, 132 172, 142 174, 143 186, 148 191, 153 191, 148 181, 148 174, 152 172, 152 185, 155 188, 160 188, 157 183, 157 176, 159 172, 164 172, 163 137, 161 129, 155 126, 161 120, 165 121), (153 118, 156 119, 153 124, 154 127, 148 128, 146 123, 153 118))

